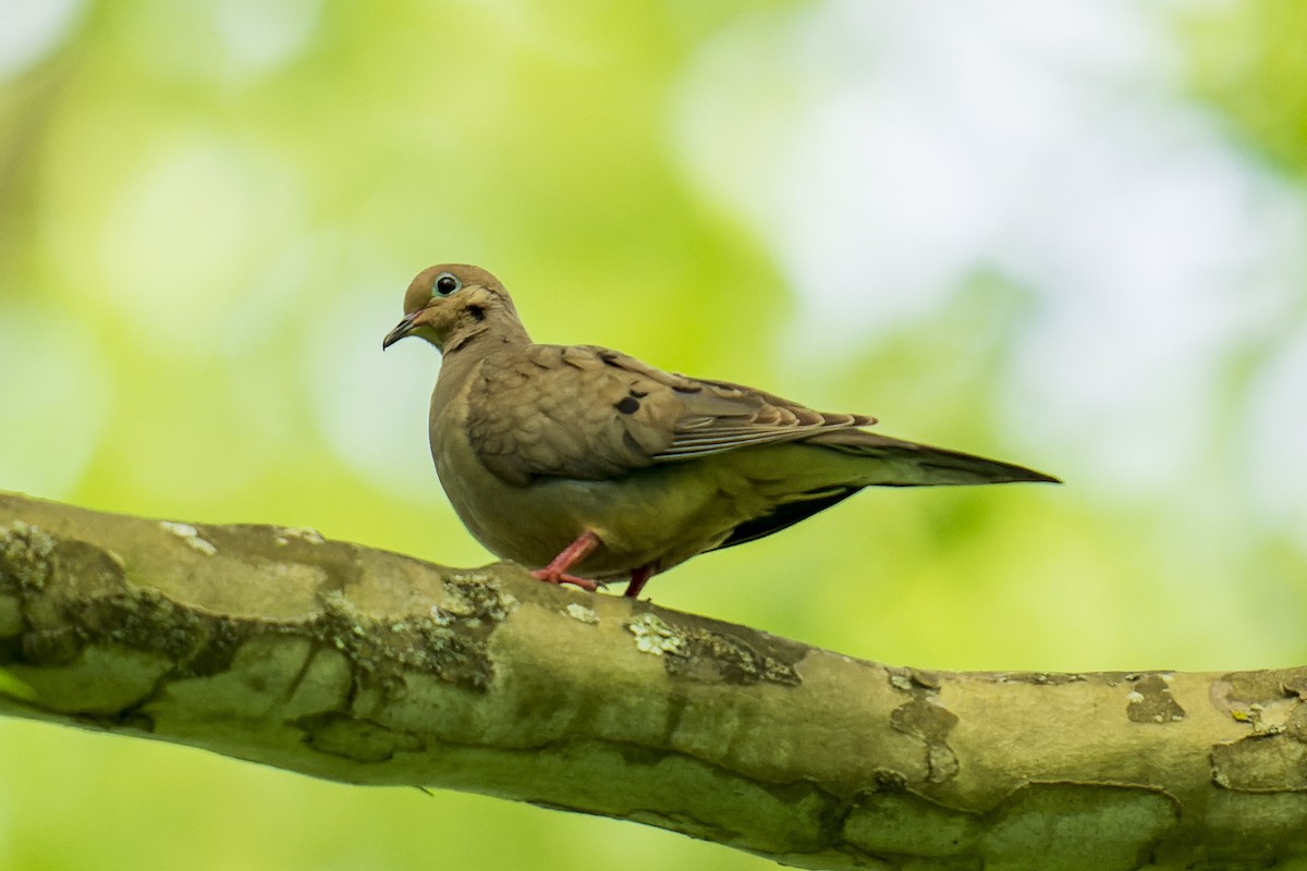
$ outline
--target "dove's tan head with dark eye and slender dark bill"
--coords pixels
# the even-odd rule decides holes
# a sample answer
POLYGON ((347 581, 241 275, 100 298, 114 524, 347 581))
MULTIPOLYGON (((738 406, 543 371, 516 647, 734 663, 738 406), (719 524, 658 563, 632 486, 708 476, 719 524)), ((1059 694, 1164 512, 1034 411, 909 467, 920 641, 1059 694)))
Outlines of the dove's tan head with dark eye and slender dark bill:
POLYGON ((439 264, 420 272, 409 285, 404 319, 386 334, 382 347, 405 336, 421 336, 448 353, 486 333, 529 341, 498 278, 480 266, 439 264))

